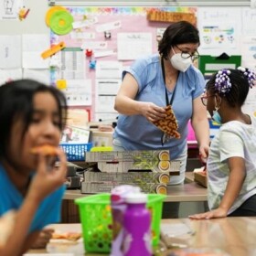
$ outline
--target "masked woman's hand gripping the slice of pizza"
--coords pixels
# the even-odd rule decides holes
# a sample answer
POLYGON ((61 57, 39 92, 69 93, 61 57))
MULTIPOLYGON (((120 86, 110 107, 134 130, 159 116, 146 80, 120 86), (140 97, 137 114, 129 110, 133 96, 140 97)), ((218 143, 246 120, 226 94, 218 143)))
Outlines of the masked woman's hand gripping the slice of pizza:
POLYGON ((151 123, 166 117, 165 107, 158 107, 152 102, 141 102, 141 112, 151 123))

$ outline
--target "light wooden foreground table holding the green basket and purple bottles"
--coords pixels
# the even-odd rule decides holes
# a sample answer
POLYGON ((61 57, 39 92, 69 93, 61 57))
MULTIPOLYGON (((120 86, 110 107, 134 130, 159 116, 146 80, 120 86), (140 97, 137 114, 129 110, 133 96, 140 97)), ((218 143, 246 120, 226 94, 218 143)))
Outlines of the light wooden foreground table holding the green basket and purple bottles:
MULTIPOLYGON (((52 228, 62 231, 80 231, 80 224, 55 224, 52 228)), ((161 229, 170 230, 170 236, 162 236, 158 255, 171 255, 171 251, 192 250, 221 251, 222 256, 256 255, 256 217, 229 217, 223 219, 191 220, 162 219, 161 229), (186 229, 184 229, 186 228, 186 229), (181 232, 183 230, 183 233, 181 232), (167 242, 166 242, 167 241, 167 242), (187 249, 184 249, 187 248, 187 249)), ((30 253, 46 253, 45 250, 31 250, 30 253)), ((88 254, 104 255, 104 254, 88 254)), ((175 254, 172 254, 175 255, 175 254)), ((186 255, 186 254, 184 254, 186 255)), ((199 255, 199 254, 198 254, 199 255)), ((205 254, 209 255, 209 254, 205 254)))

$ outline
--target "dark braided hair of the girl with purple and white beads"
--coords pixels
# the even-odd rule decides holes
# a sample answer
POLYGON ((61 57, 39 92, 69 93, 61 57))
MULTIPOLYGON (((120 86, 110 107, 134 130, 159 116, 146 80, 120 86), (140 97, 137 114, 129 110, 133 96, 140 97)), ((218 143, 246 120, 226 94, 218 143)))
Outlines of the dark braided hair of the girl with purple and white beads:
POLYGON ((249 80, 246 78, 243 72, 238 69, 229 69, 229 71, 229 80, 231 83, 229 92, 221 93, 218 91, 216 86, 216 76, 218 72, 212 75, 210 80, 208 80, 206 90, 209 92, 209 94, 219 94, 221 98, 225 98, 230 107, 241 107, 246 100, 250 89, 249 80))

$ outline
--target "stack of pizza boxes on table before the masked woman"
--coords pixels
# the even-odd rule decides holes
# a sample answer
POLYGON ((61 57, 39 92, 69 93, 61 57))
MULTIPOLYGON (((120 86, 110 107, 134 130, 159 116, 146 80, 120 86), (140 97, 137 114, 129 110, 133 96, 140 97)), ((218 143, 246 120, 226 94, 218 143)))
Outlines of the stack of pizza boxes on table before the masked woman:
POLYGON ((111 192, 113 187, 134 185, 144 193, 166 194, 171 176, 179 175, 179 161, 170 161, 169 151, 86 152, 85 161, 97 171, 84 172, 81 193, 111 192))

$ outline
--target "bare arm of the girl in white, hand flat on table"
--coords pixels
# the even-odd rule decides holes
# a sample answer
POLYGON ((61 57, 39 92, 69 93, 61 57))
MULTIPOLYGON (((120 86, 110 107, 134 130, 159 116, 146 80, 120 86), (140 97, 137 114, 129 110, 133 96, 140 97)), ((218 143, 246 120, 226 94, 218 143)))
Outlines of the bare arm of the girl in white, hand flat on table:
POLYGON ((219 204, 219 208, 205 213, 189 216, 190 219, 212 219, 227 217, 229 208, 231 208, 235 199, 238 197, 244 178, 246 176, 244 159, 242 157, 230 157, 228 159, 228 165, 229 181, 224 193, 224 197, 219 204))

